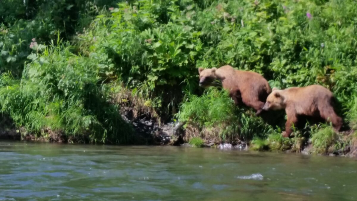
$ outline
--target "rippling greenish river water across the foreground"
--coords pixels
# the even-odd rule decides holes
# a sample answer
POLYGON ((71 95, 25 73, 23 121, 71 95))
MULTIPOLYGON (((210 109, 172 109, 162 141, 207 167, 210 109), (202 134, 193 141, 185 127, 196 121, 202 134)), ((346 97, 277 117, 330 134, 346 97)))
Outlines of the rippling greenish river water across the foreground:
POLYGON ((0 200, 357 200, 357 161, 173 146, 0 142, 0 200))

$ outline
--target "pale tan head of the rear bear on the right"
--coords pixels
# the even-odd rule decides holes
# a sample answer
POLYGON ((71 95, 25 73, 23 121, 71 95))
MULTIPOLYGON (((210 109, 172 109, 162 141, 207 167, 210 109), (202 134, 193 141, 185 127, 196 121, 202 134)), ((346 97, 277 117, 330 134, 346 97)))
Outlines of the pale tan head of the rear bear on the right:
POLYGON ((283 90, 273 88, 268 95, 267 100, 263 106, 263 110, 279 110, 286 108, 286 97, 282 94, 283 90))

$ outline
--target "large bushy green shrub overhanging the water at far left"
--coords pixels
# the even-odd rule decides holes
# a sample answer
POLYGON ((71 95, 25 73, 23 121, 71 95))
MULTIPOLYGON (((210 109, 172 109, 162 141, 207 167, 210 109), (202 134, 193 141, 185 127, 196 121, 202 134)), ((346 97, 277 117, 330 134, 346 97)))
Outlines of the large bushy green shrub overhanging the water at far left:
POLYGON ((109 86, 101 77, 111 68, 110 60, 77 56, 68 44, 59 44, 39 45, 21 81, 2 76, 2 112, 29 132, 49 128, 72 136, 90 133, 92 141, 130 142, 132 129, 109 103, 109 86))

